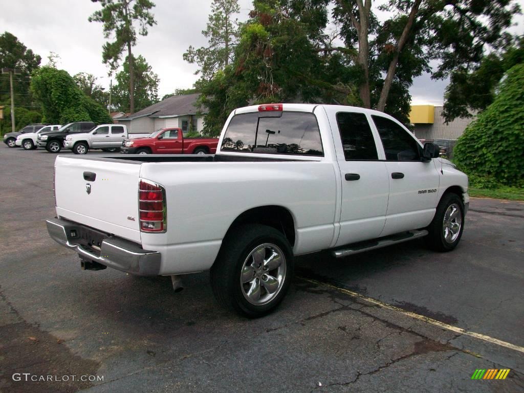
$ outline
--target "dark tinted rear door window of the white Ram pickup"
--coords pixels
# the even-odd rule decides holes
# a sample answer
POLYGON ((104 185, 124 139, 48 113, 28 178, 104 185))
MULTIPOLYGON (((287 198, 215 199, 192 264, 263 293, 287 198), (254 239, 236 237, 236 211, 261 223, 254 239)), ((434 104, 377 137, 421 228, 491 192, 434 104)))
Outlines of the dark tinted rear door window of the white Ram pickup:
POLYGON ((344 157, 349 160, 377 160, 377 147, 363 113, 339 112, 336 114, 344 157))

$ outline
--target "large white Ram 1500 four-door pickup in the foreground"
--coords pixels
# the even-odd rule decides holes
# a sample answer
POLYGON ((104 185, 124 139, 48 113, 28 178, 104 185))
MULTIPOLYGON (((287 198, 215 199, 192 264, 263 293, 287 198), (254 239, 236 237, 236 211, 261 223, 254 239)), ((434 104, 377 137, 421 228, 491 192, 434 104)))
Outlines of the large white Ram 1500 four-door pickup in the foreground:
POLYGON ((467 176, 394 118, 364 108, 238 108, 215 155, 58 156, 50 236, 84 269, 211 269, 217 299, 256 317, 282 300, 293 257, 425 236, 459 243, 467 176))

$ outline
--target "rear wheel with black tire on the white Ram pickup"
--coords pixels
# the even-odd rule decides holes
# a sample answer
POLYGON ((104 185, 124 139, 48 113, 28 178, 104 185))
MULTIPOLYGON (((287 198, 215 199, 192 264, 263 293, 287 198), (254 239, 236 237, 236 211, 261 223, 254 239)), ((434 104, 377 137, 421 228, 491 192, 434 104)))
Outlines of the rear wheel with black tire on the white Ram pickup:
MULTIPOLYGON (((272 259, 273 263, 277 258, 272 259)), ((249 270, 250 274, 251 270, 249 270)), ((219 255, 211 267, 211 287, 216 299, 224 307, 237 312, 247 318, 258 318, 274 310, 286 296, 293 276, 293 253, 286 237, 275 228, 267 225, 242 225, 227 235, 222 243, 219 255), (265 257, 258 269, 253 254, 261 249, 265 257), (267 253, 276 253, 280 264, 270 269, 270 258, 267 253), (266 261, 266 259, 268 259, 266 261), (251 266, 253 264, 253 266, 251 266), (266 267, 268 270, 266 270, 266 267), (252 269, 253 280, 241 283, 242 270, 252 269), (266 290, 264 282, 270 278, 280 277, 278 287, 274 292, 266 290), (264 279, 264 277, 266 277, 264 279), (254 283, 258 280, 256 283, 254 283), (248 301, 248 288, 258 285, 259 302, 254 304, 248 301), (267 299, 267 300, 265 300, 267 299)), ((275 282, 275 281, 274 281, 275 282)))

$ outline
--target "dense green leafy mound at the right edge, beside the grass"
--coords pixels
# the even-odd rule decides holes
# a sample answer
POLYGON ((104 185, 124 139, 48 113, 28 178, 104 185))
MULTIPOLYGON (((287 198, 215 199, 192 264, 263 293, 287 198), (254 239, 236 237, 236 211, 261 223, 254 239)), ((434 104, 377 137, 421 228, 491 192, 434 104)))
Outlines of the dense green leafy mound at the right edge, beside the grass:
POLYGON ((498 183, 524 187, 524 63, 515 65, 500 84, 494 102, 470 123, 453 154, 456 165, 473 175, 477 187, 498 183))

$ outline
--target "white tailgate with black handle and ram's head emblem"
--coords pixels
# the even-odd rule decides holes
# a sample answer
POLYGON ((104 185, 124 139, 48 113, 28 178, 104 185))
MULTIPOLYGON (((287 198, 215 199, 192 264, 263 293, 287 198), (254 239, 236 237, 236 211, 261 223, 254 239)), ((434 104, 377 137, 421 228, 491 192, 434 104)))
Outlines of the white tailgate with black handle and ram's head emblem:
POLYGON ((140 164, 59 156, 54 164, 57 215, 140 242, 140 164))

